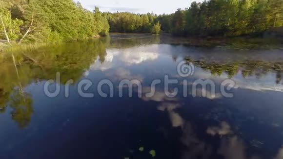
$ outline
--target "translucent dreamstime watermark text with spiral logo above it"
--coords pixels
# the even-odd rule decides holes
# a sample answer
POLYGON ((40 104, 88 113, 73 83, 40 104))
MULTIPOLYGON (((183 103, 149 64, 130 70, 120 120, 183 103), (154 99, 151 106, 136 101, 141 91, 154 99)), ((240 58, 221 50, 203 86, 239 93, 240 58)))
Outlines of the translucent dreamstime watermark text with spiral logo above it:
MULTIPOLYGON (((208 97, 211 99, 214 99, 219 95, 219 93, 216 93, 216 84, 213 80, 195 80, 193 82, 189 82, 186 78, 189 76, 193 76, 195 74, 195 66, 192 63, 187 63, 186 61, 181 61, 177 66, 177 72, 178 75, 183 78, 183 80, 176 79, 169 79, 168 75, 164 75, 163 83, 161 79, 156 79, 151 82, 150 85, 150 91, 144 93, 143 92, 143 85, 142 81, 138 79, 128 80, 124 79, 121 80, 118 84, 118 95, 119 97, 125 96, 124 90, 125 88, 128 89, 128 97, 133 97, 133 92, 137 92, 138 97, 142 98, 152 98, 156 95, 158 91, 156 91, 156 87, 159 84, 162 84, 164 86, 163 91, 164 94, 168 98, 175 98, 178 95, 179 89, 177 85, 182 83, 182 97, 187 97, 188 93, 192 95, 192 97, 208 97), (190 83, 190 84, 189 84, 190 83), (175 87, 169 87, 169 85, 175 84, 175 87), (188 87, 191 86, 191 92, 189 92, 188 87), (208 89, 210 88, 210 90, 208 89)), ((64 86, 64 97, 68 98, 70 97, 70 85, 74 83, 74 80, 67 80, 63 84, 64 86)), ((93 86, 94 83, 91 80, 84 79, 81 80, 76 84, 77 86, 77 92, 78 94, 83 98, 93 98, 95 97, 94 93, 87 93, 87 91, 90 90, 91 86, 93 86)), ((222 97, 225 98, 232 98, 233 94, 229 93, 234 86, 236 85, 235 81, 226 79, 223 80, 220 84, 220 94, 222 97)), ((47 97, 55 98, 61 93, 61 84, 60 84, 60 73, 58 72, 56 74, 56 81, 54 80, 48 80, 44 83, 44 94, 47 97), (55 86, 55 90, 50 91, 49 87, 55 86)), ((147 86, 148 88, 148 86, 147 86)), ((117 89, 117 87, 116 87, 117 89)), ((97 93, 102 98, 113 98, 115 95, 115 87, 111 80, 100 80, 97 83, 97 93), (105 90, 102 90, 103 86, 109 87, 109 92, 105 93, 105 90)), ((179 92, 180 93, 180 92, 179 92)))

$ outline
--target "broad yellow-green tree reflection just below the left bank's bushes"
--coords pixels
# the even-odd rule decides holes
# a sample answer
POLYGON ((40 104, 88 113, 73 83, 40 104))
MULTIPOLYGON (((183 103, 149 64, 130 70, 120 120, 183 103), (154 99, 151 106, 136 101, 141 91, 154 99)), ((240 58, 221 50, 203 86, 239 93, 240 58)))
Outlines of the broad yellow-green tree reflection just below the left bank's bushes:
POLYGON ((74 81, 81 79, 91 63, 98 58, 103 62, 105 56, 106 45, 102 40, 43 47, 29 54, 29 57, 37 61, 30 66, 36 66, 39 69, 34 79, 55 79, 56 73, 60 72, 61 83, 70 79, 74 81))

